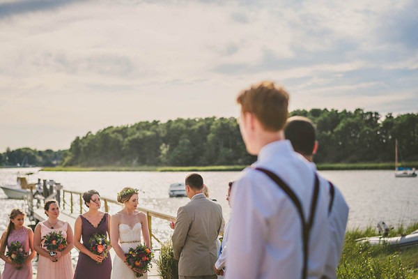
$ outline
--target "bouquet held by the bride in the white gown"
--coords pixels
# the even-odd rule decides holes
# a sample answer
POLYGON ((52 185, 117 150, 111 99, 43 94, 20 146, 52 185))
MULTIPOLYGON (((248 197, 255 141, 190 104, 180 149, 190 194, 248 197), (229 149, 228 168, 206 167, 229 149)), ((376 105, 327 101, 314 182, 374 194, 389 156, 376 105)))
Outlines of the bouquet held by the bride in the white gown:
MULTIPOLYGON (((146 271, 150 270, 151 259, 154 257, 153 250, 150 248, 139 245, 136 248, 129 248, 129 251, 126 256, 126 262, 127 264, 132 268, 139 271, 143 271, 144 273, 146 271)), ((135 276, 141 277, 144 276, 143 273, 135 272, 135 276)))

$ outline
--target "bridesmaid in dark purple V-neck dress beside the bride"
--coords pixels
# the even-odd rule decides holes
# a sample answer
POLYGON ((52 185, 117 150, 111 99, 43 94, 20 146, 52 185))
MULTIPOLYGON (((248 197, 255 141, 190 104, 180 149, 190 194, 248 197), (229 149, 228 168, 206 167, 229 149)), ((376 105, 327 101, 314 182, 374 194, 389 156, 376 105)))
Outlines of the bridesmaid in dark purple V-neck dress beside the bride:
POLYGON ((89 250, 88 241, 93 234, 110 236, 110 216, 99 211, 100 195, 96 190, 89 190, 83 194, 84 204, 88 211, 75 220, 74 243, 80 251, 77 267, 75 268, 75 279, 103 278, 109 279, 111 274, 111 259, 95 255, 89 250), (83 243, 80 239, 83 239, 83 243), (101 264, 98 264, 101 263, 101 264))

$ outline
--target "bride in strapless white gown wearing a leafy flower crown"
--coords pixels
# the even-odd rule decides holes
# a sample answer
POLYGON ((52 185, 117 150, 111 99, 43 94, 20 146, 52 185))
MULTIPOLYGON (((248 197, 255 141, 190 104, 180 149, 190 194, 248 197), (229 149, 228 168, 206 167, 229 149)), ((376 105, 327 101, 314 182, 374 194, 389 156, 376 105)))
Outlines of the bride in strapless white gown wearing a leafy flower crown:
MULTIPOLYGON (((132 269, 125 261, 125 253, 129 248, 135 248, 141 244, 141 231, 144 242, 150 247, 150 234, 146 214, 137 211, 138 190, 125 187, 118 193, 118 202, 123 204, 123 209, 111 216, 110 240, 111 246, 116 252, 114 266, 111 271, 111 279, 136 279, 136 269, 132 269)), ((139 271, 137 271, 139 272, 139 271)), ((144 273, 143 278, 148 278, 144 273)))

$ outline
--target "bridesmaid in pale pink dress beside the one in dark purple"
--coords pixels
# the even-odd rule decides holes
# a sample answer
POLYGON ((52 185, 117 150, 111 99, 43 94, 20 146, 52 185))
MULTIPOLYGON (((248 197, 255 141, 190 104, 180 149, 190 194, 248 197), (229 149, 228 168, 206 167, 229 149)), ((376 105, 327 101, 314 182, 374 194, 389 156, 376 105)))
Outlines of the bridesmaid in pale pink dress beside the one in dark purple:
POLYGON ((71 226, 62 220, 59 220, 59 205, 56 200, 52 199, 45 202, 45 214, 48 219, 38 223, 33 236, 33 243, 36 252, 39 254, 38 259, 38 279, 72 279, 74 277, 74 269, 71 264, 70 251, 74 247, 72 243, 71 226), (51 256, 49 252, 43 248, 42 237, 49 232, 61 232, 67 239, 67 247, 62 252, 56 252, 51 256))

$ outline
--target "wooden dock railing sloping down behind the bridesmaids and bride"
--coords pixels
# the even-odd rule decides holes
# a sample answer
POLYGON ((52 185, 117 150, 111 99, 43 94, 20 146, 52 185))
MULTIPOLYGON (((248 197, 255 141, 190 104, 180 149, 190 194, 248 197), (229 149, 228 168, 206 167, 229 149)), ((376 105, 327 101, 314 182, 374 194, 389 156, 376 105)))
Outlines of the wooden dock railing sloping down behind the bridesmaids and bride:
MULTIPOLYGON (((123 206, 120 202, 116 201, 115 199, 110 199, 108 197, 100 197, 102 203, 104 204, 104 211, 110 213, 112 205, 123 206)), ((87 207, 84 205, 83 201, 83 193, 78 192, 75 190, 62 190, 62 199, 61 199, 61 209, 65 211, 69 211, 70 214, 82 214, 87 211, 87 207)), ((162 241, 153 234, 152 230, 152 220, 153 218, 159 218, 162 220, 176 220, 176 216, 171 216, 167 213, 162 213, 159 211, 153 211, 150 209, 146 209, 144 207, 137 207, 137 210, 146 213, 146 217, 148 220, 148 230, 150 233, 150 241, 151 247, 153 246, 153 239, 155 239, 158 243, 162 244, 162 241)))

